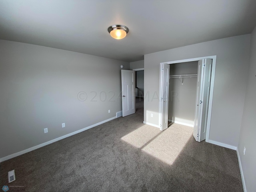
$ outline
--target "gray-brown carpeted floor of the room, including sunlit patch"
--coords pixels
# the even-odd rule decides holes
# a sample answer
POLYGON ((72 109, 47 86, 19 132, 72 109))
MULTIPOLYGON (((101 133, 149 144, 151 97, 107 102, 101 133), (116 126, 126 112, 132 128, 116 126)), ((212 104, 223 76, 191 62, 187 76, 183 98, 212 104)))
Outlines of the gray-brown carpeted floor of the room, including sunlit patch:
POLYGON ((120 117, 0 165, 8 192, 242 192, 236 151, 196 142, 191 127, 143 124, 143 100, 120 117), (7 173, 15 169, 16 181, 7 173), (15 187, 20 186, 20 187, 15 187))

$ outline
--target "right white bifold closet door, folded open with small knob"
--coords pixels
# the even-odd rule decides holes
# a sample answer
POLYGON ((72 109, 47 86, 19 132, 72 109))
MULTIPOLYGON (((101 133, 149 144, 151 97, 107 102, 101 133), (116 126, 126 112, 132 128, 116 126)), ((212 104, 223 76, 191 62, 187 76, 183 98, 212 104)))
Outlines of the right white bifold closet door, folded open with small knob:
POLYGON ((193 136, 198 142, 201 142, 206 138, 211 70, 212 59, 203 59, 198 61, 198 77, 196 84, 196 110, 193 132, 193 136))

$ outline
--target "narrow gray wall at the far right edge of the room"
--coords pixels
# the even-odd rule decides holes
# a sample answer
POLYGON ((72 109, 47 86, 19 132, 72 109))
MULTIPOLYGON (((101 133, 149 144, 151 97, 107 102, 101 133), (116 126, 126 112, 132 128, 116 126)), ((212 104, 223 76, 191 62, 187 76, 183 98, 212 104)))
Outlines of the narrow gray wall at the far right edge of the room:
POLYGON ((250 67, 244 101, 244 113, 238 152, 244 173, 247 192, 256 189, 256 28, 251 34, 250 67), (243 154, 246 147, 245 155, 243 154))

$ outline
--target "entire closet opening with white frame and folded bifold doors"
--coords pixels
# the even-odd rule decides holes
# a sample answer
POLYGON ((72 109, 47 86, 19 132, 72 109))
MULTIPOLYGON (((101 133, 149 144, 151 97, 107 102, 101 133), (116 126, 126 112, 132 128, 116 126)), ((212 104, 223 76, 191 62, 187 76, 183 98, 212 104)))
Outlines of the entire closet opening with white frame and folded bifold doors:
POLYGON ((216 56, 160 64, 160 130, 186 125, 196 141, 208 142, 215 66, 216 56))

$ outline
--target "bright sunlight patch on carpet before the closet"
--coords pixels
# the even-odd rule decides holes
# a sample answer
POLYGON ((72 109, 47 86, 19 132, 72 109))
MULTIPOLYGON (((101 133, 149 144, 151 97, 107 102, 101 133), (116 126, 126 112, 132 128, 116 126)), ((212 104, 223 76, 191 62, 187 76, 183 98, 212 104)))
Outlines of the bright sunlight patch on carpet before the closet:
POLYGON ((172 124, 168 129, 143 125, 121 139, 150 156, 172 165, 193 134, 193 128, 172 124))

